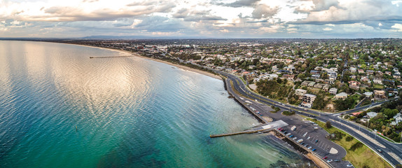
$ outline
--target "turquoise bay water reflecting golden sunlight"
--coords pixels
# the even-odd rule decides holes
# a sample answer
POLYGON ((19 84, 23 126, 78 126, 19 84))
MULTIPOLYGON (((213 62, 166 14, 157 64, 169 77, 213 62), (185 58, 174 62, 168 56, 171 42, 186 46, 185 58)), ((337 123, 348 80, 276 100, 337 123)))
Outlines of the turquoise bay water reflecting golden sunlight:
POLYGON ((0 167, 269 167, 300 156, 221 80, 60 43, 0 41, 0 167))

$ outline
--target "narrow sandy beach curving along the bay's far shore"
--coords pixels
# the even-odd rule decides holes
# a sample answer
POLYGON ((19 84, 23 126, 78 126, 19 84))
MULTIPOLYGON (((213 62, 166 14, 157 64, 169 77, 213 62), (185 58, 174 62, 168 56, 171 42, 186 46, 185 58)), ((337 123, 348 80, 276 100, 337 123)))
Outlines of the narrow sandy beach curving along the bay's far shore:
POLYGON ((172 66, 176 66, 177 68, 179 68, 181 70, 184 70, 184 71, 192 71, 192 72, 199 73, 199 74, 202 74, 202 75, 205 75, 205 76, 209 76, 211 78, 216 78, 216 79, 222 80, 221 76, 217 76, 217 75, 215 75, 213 73, 209 73, 207 71, 201 71, 199 69, 193 69, 193 68, 190 68, 188 66, 184 66, 184 65, 181 65, 181 64, 174 64, 172 62, 163 61, 161 59, 156 59, 156 58, 151 58, 151 57, 144 57, 144 56, 139 55, 137 52, 130 52, 130 51, 126 51, 126 50, 118 50, 118 49, 114 49, 114 48, 102 48, 102 47, 96 47, 96 46, 92 46, 92 45, 73 44, 73 43, 68 43, 68 44, 81 45, 81 46, 85 46, 85 47, 99 48, 99 49, 104 49, 104 50, 112 50, 112 51, 116 51, 116 52, 124 52, 126 54, 133 55, 134 57, 141 57, 141 58, 144 58, 144 59, 149 59, 151 61, 161 62, 161 63, 164 63, 164 64, 169 64, 169 65, 172 65, 172 66))

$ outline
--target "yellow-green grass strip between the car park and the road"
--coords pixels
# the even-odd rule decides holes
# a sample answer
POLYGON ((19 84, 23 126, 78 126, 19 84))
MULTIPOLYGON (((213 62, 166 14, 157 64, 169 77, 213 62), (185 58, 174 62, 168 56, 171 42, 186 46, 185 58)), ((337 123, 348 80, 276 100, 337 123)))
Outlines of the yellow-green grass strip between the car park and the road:
POLYGON ((324 130, 326 130, 326 132, 328 132, 329 134, 332 134, 333 132, 336 131, 345 134, 346 136, 343 136, 342 139, 333 140, 333 142, 345 148, 347 154, 344 160, 349 160, 350 162, 352 162, 352 165, 354 165, 354 167, 365 167, 365 166, 375 168, 391 167, 391 165, 385 162, 385 160, 382 160, 382 158, 379 155, 371 151, 370 148, 368 148, 366 145, 361 146, 360 148, 356 148, 354 151, 352 151, 350 148, 359 141, 354 138, 352 139, 352 141, 347 141, 346 137, 349 137, 350 135, 347 134, 346 132, 343 132, 342 130, 339 130, 338 128, 335 127, 331 127, 328 129, 324 126, 325 123, 322 123, 315 119, 307 118, 307 120, 314 121, 320 127, 324 128, 324 130))

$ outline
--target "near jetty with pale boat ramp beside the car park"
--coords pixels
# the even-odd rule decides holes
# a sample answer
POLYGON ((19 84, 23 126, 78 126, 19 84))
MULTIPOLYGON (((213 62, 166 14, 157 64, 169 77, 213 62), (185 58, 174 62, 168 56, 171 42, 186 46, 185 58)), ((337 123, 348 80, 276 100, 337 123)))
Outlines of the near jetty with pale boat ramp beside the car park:
POLYGON ((257 127, 253 127, 249 130, 244 130, 241 132, 226 133, 226 134, 210 134, 209 137, 216 138, 216 137, 226 137, 226 136, 237 135, 237 134, 254 134, 256 132, 268 132, 275 128, 285 127, 287 125, 288 124, 285 123, 283 120, 277 120, 272 123, 258 125, 257 127))

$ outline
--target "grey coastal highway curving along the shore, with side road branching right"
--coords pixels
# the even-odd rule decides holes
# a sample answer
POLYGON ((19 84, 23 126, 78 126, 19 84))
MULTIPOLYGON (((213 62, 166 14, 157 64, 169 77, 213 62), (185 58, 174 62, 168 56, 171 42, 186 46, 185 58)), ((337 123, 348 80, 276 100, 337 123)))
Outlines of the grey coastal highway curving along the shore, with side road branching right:
MULTIPOLYGON (((298 113, 300 115, 312 116, 322 122, 326 122, 327 120, 330 120, 331 124, 334 127, 338 127, 340 130, 343 130, 343 131, 347 132, 348 134, 352 135, 353 137, 355 137, 356 139, 359 139, 359 141, 363 142, 363 144, 366 144, 366 146, 368 146, 375 153, 377 153, 382 158, 384 158, 384 160, 387 160, 387 162, 389 162, 393 167, 395 167, 395 165, 402 163, 402 144, 394 144, 390 141, 382 139, 381 137, 378 137, 378 135, 376 135, 374 132, 371 132, 370 130, 367 130, 365 127, 359 127, 359 125, 356 125, 355 123, 348 122, 347 120, 341 120, 338 117, 340 115, 340 113, 324 113, 324 112, 320 112, 320 111, 314 111, 311 109, 301 108, 299 106, 292 106, 289 104, 283 104, 281 102, 276 102, 275 100, 268 99, 267 97, 263 97, 260 94, 256 94, 255 92, 252 92, 251 90, 249 90, 246 87, 246 85, 244 85, 243 81, 240 78, 238 78, 237 76, 235 76, 231 73, 217 71, 216 69, 211 69, 211 70, 213 70, 216 73, 219 73, 223 76, 226 76, 229 79, 229 81, 232 81, 234 90, 236 90, 239 94, 241 94, 238 96, 247 97, 251 100, 260 102, 262 104, 267 104, 270 106, 272 106, 272 105, 278 106, 280 109, 284 109, 284 110, 298 111, 298 113), (377 149, 381 149, 382 153, 378 152, 377 149)), ((393 101, 393 100, 394 99, 391 99, 389 101, 393 101)), ((360 106, 359 108, 351 109, 349 111, 343 111, 342 113, 354 113, 356 111, 368 109, 371 106, 377 106, 382 103, 384 103, 384 102, 377 102, 375 104, 370 104, 369 106, 360 106)))

